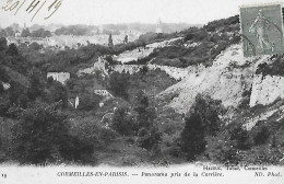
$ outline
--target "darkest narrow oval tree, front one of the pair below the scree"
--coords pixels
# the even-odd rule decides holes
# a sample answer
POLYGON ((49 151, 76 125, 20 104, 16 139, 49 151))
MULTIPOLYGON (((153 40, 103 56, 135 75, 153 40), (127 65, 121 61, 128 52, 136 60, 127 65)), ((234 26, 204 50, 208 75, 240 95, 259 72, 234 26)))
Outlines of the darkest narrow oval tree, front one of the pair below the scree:
POLYGON ((192 113, 185 122, 186 126, 181 133, 181 150, 187 153, 189 161, 193 161, 205 150, 205 128, 199 113, 192 113))

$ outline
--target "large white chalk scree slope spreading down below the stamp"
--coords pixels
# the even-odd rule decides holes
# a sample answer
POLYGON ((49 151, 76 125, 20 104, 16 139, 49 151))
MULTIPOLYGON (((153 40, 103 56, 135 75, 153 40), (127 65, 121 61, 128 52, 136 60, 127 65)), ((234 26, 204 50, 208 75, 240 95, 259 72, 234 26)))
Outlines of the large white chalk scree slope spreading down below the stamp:
POLYGON ((268 56, 245 58, 241 46, 232 45, 214 60, 212 67, 200 72, 189 72, 187 78, 161 95, 176 93, 169 106, 179 113, 186 113, 190 108, 198 93, 221 100, 224 106, 236 107, 244 99, 242 93, 250 90, 257 66, 268 60, 268 56))

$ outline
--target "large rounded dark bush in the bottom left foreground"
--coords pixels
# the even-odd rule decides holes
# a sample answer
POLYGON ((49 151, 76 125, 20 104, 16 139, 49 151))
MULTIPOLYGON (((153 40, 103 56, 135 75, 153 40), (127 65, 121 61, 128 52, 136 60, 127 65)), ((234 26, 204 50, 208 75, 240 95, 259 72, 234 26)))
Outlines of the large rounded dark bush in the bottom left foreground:
POLYGON ((55 106, 36 104, 24 111, 12 130, 12 157, 22 164, 80 160, 83 151, 92 152, 84 142, 70 135, 67 116, 55 106))

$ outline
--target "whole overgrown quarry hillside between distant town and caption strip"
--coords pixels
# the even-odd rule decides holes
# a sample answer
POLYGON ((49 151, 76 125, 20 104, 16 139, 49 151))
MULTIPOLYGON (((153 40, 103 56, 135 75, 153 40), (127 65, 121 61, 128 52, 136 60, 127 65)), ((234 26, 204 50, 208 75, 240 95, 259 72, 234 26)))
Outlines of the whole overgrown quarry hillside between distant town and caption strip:
POLYGON ((284 59, 245 58, 238 16, 114 47, 0 46, 0 161, 283 164, 284 59))

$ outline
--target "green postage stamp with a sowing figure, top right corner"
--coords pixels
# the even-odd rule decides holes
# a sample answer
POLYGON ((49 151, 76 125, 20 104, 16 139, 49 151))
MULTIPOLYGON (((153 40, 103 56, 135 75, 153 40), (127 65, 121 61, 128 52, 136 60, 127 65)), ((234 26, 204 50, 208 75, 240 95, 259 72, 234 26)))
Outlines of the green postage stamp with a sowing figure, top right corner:
POLYGON ((240 7, 244 56, 284 53, 281 4, 240 7))

